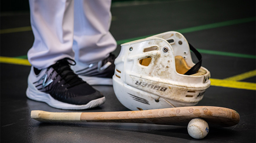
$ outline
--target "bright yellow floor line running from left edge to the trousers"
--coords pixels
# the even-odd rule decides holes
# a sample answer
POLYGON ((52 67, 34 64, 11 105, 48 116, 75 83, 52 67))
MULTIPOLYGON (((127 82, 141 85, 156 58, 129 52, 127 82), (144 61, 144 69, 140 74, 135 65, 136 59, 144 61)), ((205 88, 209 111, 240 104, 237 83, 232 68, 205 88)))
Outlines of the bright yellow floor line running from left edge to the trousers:
POLYGON ((0 57, 1 63, 11 63, 16 65, 25 65, 25 66, 31 66, 29 61, 27 59, 20 59, 20 58, 10 58, 10 57, 0 57))

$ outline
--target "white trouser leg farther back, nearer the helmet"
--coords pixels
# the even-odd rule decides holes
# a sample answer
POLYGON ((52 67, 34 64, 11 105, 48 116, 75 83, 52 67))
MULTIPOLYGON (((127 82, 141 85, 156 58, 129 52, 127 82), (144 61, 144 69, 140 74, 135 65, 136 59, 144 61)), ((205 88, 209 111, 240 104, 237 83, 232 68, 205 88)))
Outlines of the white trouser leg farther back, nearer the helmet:
POLYGON ((109 32, 111 0, 75 0, 75 60, 79 63, 98 62, 116 48, 109 32))

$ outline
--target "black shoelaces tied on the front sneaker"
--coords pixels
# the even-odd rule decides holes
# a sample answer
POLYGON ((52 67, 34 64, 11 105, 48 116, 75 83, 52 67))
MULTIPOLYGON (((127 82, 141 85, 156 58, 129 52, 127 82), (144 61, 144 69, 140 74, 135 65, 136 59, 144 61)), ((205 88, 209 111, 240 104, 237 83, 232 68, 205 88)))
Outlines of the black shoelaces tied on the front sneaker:
POLYGON ((85 83, 77 74, 74 73, 73 70, 71 70, 70 65, 74 66, 76 65, 76 62, 73 59, 64 58, 62 60, 58 60, 51 66, 57 71, 58 74, 56 76, 60 75, 62 77, 61 80, 65 81, 63 85, 69 85, 67 89, 85 83))

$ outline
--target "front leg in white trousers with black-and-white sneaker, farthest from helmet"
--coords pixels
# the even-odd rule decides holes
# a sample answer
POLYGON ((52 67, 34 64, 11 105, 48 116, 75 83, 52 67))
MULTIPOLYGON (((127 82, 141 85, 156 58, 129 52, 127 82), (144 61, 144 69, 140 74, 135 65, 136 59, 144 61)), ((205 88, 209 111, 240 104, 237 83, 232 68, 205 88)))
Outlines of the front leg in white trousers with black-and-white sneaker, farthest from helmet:
POLYGON ((28 52, 32 65, 26 96, 54 108, 88 109, 105 97, 70 69, 75 61, 73 0, 30 0, 31 25, 35 37, 28 52))

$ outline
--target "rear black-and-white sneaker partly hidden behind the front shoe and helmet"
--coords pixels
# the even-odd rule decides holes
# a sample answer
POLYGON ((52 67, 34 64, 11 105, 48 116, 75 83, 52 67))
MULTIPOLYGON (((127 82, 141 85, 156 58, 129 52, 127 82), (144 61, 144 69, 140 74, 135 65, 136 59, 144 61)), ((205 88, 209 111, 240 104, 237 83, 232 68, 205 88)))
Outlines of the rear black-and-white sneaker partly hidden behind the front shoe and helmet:
POLYGON ((82 80, 90 85, 113 85, 112 76, 114 75, 115 56, 110 54, 108 58, 96 63, 91 63, 88 67, 75 65, 71 68, 82 80))

